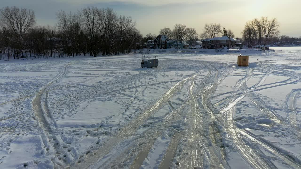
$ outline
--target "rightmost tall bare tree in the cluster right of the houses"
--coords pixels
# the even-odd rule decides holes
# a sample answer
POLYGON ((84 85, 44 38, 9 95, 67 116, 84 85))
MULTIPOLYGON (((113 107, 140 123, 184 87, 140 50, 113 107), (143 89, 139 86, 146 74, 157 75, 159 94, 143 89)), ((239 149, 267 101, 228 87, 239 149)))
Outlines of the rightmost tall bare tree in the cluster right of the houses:
POLYGON ((264 35, 264 51, 265 51, 265 45, 267 41, 272 38, 276 37, 279 34, 279 26, 280 24, 278 23, 276 18, 273 18, 271 20, 268 20, 267 17, 261 17, 260 23, 262 24, 262 32, 264 35))

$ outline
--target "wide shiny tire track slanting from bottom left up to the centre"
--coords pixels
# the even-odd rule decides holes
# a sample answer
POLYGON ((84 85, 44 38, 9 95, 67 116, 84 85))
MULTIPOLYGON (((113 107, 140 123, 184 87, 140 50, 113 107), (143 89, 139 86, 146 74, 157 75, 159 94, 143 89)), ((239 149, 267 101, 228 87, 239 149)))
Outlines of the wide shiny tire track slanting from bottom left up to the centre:
POLYGON ((173 85, 165 94, 161 95, 159 99, 152 105, 147 106, 144 110, 144 112, 141 113, 140 116, 138 116, 136 119, 129 122, 129 124, 125 127, 123 127, 119 132, 112 136, 109 140, 107 140, 101 147, 95 150, 93 156, 86 156, 84 160, 80 160, 79 163, 73 163, 70 164, 71 168, 89 168, 89 167, 96 167, 101 164, 99 162, 101 160, 101 163, 106 162, 108 159, 106 157, 107 154, 110 154, 110 156, 118 156, 121 151, 125 151, 130 146, 130 142, 123 142, 126 140, 126 138, 131 137, 133 134, 135 134, 135 131, 137 131, 140 127, 140 125, 143 124, 143 122, 154 115, 155 112, 157 112, 162 106, 167 104, 167 101, 178 91, 182 88, 182 86, 189 80, 190 77, 184 78, 175 85, 173 85), (116 152, 116 154, 110 152, 114 147, 118 147, 120 143, 123 144, 123 149, 120 149, 120 151, 116 152))

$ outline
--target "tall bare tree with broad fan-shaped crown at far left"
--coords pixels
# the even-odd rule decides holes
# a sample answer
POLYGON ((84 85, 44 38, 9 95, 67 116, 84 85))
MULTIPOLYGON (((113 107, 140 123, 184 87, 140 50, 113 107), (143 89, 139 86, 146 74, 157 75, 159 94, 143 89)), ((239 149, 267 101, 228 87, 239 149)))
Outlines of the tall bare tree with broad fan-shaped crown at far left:
POLYGON ((34 11, 26 8, 5 7, 0 10, 2 19, 9 29, 14 31, 19 42, 23 40, 27 29, 36 24, 34 11))

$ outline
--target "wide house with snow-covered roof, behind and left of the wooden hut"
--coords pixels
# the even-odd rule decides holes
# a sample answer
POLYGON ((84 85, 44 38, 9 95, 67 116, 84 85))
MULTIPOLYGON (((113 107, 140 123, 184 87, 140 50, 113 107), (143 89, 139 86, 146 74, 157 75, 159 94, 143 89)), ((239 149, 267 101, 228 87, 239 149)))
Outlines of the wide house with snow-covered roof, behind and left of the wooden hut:
MULTIPOLYGON (((243 47, 243 45, 244 44, 240 43, 240 40, 235 39, 235 38, 231 38, 231 46, 243 47)), ((222 36, 222 37, 204 39, 204 40, 202 40, 202 47, 203 48, 229 47, 229 38, 228 38, 228 36, 222 36)))

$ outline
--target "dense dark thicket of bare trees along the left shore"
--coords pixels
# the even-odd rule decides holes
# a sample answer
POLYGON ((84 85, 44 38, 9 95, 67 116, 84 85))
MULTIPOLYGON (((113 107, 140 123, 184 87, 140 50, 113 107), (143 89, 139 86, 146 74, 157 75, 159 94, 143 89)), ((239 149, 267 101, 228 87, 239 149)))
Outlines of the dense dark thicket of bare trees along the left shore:
POLYGON ((58 11, 54 26, 35 26, 34 11, 16 6, 2 8, 0 16, 0 47, 8 59, 128 54, 140 48, 142 39, 132 17, 112 8, 58 11))

